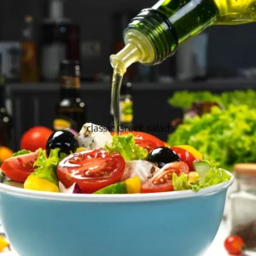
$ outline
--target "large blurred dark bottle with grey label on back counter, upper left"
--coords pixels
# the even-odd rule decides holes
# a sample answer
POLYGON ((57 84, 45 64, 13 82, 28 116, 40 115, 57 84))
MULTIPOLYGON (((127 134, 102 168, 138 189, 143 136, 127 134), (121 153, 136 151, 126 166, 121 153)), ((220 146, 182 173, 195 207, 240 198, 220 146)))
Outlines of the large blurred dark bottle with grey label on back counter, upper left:
POLYGON ((42 79, 55 81, 62 60, 79 61, 80 27, 64 17, 64 0, 49 0, 49 18, 41 26, 42 79))

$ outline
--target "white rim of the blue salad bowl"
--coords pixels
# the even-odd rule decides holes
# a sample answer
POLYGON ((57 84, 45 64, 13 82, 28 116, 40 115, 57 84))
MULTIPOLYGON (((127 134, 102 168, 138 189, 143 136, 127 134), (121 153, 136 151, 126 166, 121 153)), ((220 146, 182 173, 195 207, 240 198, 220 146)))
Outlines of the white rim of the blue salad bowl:
POLYGON ((148 194, 123 194, 123 195, 91 195, 91 194, 66 194, 36 191, 29 189, 15 188, 3 183, 0 183, 0 192, 3 194, 16 195, 20 197, 50 200, 50 201, 80 201, 80 202, 142 202, 142 201, 166 201, 182 198, 207 196, 217 194, 219 191, 228 189, 234 182, 234 175, 226 171, 230 175, 230 180, 224 183, 213 185, 206 189, 201 189, 199 192, 192 190, 148 193, 148 194))

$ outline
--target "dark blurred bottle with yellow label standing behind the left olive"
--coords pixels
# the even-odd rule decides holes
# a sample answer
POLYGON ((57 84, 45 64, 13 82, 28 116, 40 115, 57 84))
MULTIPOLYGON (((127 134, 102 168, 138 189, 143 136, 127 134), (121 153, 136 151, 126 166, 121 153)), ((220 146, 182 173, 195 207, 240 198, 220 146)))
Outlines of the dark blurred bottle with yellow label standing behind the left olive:
POLYGON ((54 129, 80 131, 86 123, 86 108, 80 94, 79 61, 61 61, 60 102, 56 106, 54 129))

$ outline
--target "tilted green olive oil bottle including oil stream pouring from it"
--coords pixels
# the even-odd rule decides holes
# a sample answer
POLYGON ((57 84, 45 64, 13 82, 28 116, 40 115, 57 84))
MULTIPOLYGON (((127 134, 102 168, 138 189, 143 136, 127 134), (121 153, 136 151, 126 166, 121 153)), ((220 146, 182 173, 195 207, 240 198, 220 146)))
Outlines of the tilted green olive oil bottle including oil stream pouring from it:
POLYGON ((143 9, 125 29, 125 47, 110 56, 113 112, 119 113, 119 87, 132 63, 159 64, 174 55, 178 45, 208 26, 254 20, 256 0, 160 0, 151 9, 143 9))

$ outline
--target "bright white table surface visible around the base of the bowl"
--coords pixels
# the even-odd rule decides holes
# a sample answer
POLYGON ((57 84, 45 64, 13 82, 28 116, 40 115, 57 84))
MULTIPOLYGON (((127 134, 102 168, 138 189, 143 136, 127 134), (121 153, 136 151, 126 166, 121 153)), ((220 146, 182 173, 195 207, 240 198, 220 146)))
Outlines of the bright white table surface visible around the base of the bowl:
MULTIPOLYGON (((0 228, 0 232, 3 231, 0 228)), ((212 241, 212 245, 204 256, 229 256, 224 249, 224 240, 228 236, 228 232, 224 222, 220 225, 218 234, 215 237, 214 241, 212 241)), ((245 256, 256 256, 256 253, 246 252, 245 256)), ((0 253, 0 256, 19 256, 15 252, 6 252, 0 253)), ((192 256, 192 255, 191 255, 192 256)), ((193 255, 196 256, 196 255, 193 255)))

